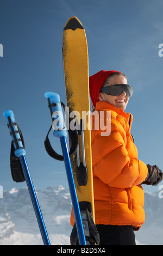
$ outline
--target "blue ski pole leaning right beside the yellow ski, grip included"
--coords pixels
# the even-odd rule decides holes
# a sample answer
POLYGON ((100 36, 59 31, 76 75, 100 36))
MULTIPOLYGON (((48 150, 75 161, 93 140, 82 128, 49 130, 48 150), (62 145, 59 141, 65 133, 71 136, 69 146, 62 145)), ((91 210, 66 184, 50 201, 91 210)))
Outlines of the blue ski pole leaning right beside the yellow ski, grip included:
POLYGON ((70 156, 66 143, 67 130, 65 129, 64 117, 62 114, 60 97, 57 93, 47 92, 45 97, 48 99, 49 108, 53 120, 53 135, 60 138, 62 153, 64 155, 68 185, 71 193, 74 217, 77 225, 77 233, 80 245, 86 245, 82 217, 80 215, 79 203, 77 198, 76 187, 74 184, 70 156))

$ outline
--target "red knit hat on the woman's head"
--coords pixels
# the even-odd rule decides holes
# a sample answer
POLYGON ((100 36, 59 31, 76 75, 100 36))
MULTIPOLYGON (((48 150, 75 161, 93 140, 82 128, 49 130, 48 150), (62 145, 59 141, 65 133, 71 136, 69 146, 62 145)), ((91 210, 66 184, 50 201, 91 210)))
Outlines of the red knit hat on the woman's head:
POLYGON ((90 96, 91 96, 91 100, 94 107, 96 107, 96 102, 99 101, 98 96, 103 86, 103 83, 105 82, 106 78, 108 78, 108 76, 110 76, 112 73, 115 73, 115 72, 121 73, 116 70, 110 70, 110 71, 101 70, 95 75, 90 76, 89 78, 90 96))

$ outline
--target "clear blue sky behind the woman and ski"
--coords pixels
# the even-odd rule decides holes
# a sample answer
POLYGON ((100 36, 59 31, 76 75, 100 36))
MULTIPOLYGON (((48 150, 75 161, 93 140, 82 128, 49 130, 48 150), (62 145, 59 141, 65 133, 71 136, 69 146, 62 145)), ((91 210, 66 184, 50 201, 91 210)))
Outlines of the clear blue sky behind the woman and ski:
MULTIPOLYGON (((0 185, 4 190, 26 186, 16 184, 10 174, 11 138, 3 117, 7 109, 21 127, 34 185, 68 186, 64 162, 53 160, 44 148, 51 125, 44 94, 58 93, 66 102, 62 33, 72 16, 85 28, 90 75, 118 70, 134 87, 126 111, 134 115, 131 133, 139 159, 163 169, 163 57, 158 54, 163 43, 162 8, 160 0, 1 0, 0 185)), ((51 136, 51 142, 61 153, 59 139, 51 136)), ((158 187, 144 188, 158 191, 158 187)))

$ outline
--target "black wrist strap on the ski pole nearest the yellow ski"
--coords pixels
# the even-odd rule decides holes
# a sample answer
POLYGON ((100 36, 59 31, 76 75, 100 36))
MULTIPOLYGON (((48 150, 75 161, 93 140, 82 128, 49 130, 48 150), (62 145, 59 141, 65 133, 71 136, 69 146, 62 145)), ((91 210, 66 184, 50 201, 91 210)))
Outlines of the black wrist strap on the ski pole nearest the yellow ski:
MULTIPOLYGON (((45 94, 45 96, 47 97, 47 96, 49 96, 49 93, 47 94, 45 94)), ((51 98, 52 99, 52 98, 51 98)), ((49 109, 50 109, 50 111, 51 111, 51 116, 53 115, 53 111, 56 111, 55 109, 54 109, 54 107, 55 107, 55 104, 54 104, 54 102, 52 103, 51 101, 50 101, 50 99, 48 98, 48 103, 49 103, 49 109), (52 109, 52 107, 53 107, 53 109, 52 109)), ((60 102, 61 103, 61 106, 64 108, 64 111, 65 111, 65 105, 64 105, 64 103, 62 103, 62 102, 60 102)), ((61 110, 61 109, 60 109, 61 110)), ((66 118, 67 118, 67 116, 66 116, 66 118)), ((52 118, 52 120, 54 121, 54 119, 52 118)), ((71 118, 70 118, 70 116, 69 116, 69 124, 70 124, 70 122, 71 122, 71 118)), ((52 145, 51 145, 51 143, 50 143, 50 141, 49 141, 49 139, 48 139, 48 135, 49 135, 49 132, 51 131, 51 129, 52 129, 52 126, 53 125, 51 125, 51 127, 50 127, 50 129, 49 129, 49 131, 48 131, 48 133, 47 133, 47 136, 46 136, 46 139, 45 139, 45 142, 44 142, 44 145, 45 145, 45 149, 46 149, 46 151, 47 151, 47 153, 48 153, 48 155, 49 156, 51 156, 51 157, 53 157, 54 159, 57 159, 57 160, 59 160, 59 161, 64 161, 64 156, 63 155, 59 155, 57 152, 55 152, 54 151, 54 149, 52 148, 52 145)), ((66 128, 65 128, 66 129, 66 128)), ((72 157, 72 155, 75 153, 75 151, 76 151, 76 149, 77 149, 77 146, 78 146, 78 133, 77 133, 77 130, 74 130, 74 131, 72 131, 71 129, 69 129, 68 130, 68 135, 69 135, 69 139, 70 139, 70 142, 71 142, 71 148, 70 148, 70 151, 69 151, 69 155, 70 155, 70 157, 72 157)))

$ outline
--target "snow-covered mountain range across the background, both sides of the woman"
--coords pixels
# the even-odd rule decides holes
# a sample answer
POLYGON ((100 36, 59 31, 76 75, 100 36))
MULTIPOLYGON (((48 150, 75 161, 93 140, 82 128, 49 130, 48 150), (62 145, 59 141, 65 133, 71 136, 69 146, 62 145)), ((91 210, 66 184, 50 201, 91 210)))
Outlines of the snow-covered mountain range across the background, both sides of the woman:
MULTIPOLYGON (((51 245, 70 245, 71 198, 68 188, 36 189, 51 245)), ((27 188, 4 191, 0 199, 0 245, 43 245, 27 188)), ((137 245, 163 245, 163 199, 145 193, 146 221, 135 232, 137 245)))

